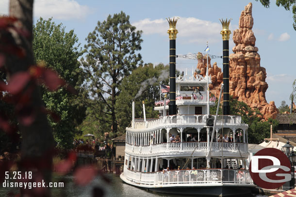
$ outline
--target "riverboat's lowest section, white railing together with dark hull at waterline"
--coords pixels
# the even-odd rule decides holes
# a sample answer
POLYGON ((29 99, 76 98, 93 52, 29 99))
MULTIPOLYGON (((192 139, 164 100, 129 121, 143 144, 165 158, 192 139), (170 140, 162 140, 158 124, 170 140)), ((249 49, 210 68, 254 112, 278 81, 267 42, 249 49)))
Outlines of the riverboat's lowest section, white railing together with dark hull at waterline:
POLYGON ((196 197, 249 195, 254 184, 248 170, 190 169, 136 172, 125 168, 120 178, 149 191, 196 197))

